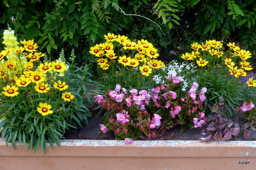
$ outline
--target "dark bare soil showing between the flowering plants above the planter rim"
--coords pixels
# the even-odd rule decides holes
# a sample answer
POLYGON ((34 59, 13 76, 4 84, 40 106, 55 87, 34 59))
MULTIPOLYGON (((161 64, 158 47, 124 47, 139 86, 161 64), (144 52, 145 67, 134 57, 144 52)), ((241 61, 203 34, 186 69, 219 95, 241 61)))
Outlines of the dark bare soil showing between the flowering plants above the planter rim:
MULTIPOLYGON (((93 106, 90 108, 92 109, 93 106)), ((89 118, 88 125, 84 125, 81 130, 71 129, 66 132, 64 137, 66 139, 92 139, 92 140, 115 140, 114 132, 107 132, 100 136, 99 124, 102 124, 102 116, 96 117, 98 111, 93 111, 93 116, 89 118)), ((244 115, 238 114, 239 125, 242 127, 244 125, 244 115)), ((183 133, 180 133, 180 126, 177 125, 172 129, 161 131, 159 129, 154 129, 153 131, 157 134, 156 138, 151 140, 199 140, 200 138, 207 137, 209 133, 205 130, 207 126, 203 128, 186 129, 183 133), (202 135, 204 132, 206 135, 202 135)), ((256 140, 256 131, 250 130, 250 136, 244 139, 242 133, 236 140, 256 140)))

